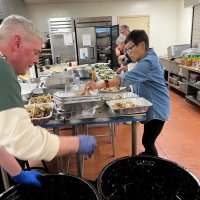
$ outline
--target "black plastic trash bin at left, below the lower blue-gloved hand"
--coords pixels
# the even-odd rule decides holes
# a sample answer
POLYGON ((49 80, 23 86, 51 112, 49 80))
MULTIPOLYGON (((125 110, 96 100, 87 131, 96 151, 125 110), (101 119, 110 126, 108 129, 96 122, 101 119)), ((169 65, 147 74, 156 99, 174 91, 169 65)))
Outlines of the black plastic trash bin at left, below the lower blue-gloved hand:
POLYGON ((88 181, 68 174, 40 177, 42 187, 17 185, 0 196, 0 200, 101 200, 88 181))

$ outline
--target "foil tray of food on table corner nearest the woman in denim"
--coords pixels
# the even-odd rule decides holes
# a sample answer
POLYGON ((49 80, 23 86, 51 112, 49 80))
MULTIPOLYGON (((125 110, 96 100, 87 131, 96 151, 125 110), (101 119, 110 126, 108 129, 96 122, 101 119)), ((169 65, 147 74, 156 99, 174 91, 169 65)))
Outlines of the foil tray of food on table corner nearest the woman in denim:
POLYGON ((132 115, 135 113, 147 112, 149 106, 152 103, 146 99, 140 98, 129 98, 120 100, 106 101, 112 112, 117 115, 132 115))

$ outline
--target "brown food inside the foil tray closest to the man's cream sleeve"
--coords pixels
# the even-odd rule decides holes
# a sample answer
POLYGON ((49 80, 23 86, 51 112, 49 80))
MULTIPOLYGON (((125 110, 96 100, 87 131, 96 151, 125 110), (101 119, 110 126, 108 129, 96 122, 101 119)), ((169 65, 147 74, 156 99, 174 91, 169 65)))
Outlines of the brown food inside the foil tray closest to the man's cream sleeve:
POLYGON ((26 111, 28 112, 30 118, 42 118, 47 117, 52 112, 52 107, 47 105, 30 105, 26 107, 26 111))

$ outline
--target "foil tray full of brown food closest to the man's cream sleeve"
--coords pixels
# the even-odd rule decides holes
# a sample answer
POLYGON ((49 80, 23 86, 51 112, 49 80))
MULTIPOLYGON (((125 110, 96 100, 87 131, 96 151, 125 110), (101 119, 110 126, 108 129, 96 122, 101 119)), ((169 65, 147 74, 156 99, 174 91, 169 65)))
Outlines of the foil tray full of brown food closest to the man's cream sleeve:
POLYGON ((34 125, 46 124, 53 113, 53 103, 28 104, 24 106, 34 125))

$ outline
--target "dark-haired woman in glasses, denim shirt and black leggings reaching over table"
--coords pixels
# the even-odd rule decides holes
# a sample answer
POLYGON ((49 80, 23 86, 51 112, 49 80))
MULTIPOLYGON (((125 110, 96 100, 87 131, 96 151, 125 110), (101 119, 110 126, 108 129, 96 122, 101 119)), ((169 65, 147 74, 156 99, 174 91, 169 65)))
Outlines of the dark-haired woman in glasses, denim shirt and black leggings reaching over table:
POLYGON ((142 144, 145 148, 140 155, 158 156, 155 142, 161 133, 164 123, 169 119, 170 98, 165 84, 163 66, 152 48, 144 30, 133 30, 125 40, 125 51, 136 66, 117 77, 89 82, 85 89, 101 89, 133 85, 134 92, 152 103, 144 122, 142 144))

